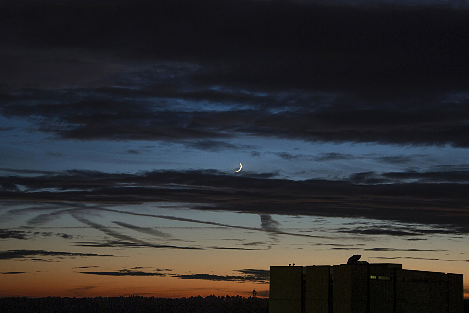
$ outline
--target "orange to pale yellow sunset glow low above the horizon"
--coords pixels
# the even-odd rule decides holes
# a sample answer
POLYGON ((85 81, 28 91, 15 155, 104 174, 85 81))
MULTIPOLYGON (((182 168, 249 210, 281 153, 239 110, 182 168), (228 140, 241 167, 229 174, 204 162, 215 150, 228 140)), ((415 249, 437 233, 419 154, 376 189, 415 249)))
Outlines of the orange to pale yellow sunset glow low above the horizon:
MULTIPOLYGON (((177 210, 165 210, 163 213, 167 215, 180 214, 177 210)), ((231 223, 246 227, 256 227, 259 222, 256 214, 193 210, 185 213, 186 216, 192 214, 191 218, 202 221, 223 221, 230 218, 231 223)), ((252 276, 252 279, 246 278, 249 276, 246 270, 268 270, 270 266, 289 263, 295 263, 297 266, 335 265, 345 263, 352 254, 362 254, 361 260, 371 263, 402 263, 406 269, 464 274, 466 286, 464 296, 469 298, 468 263, 464 260, 466 255, 461 254, 466 247, 465 239, 439 236, 429 237, 428 240, 408 241, 400 237, 354 236, 334 232, 334 229, 346 223, 362 222, 345 218, 323 219, 322 224, 316 225, 318 222, 311 221, 312 217, 295 217, 294 220, 288 216, 272 215, 272 219, 279 221, 288 233, 312 236, 302 237, 249 229, 214 227, 196 222, 148 219, 141 216, 125 217, 126 222, 130 224, 140 225, 146 229, 158 229, 159 232, 170 235, 152 238, 147 234, 141 234, 142 237, 135 241, 148 242, 155 246, 134 247, 122 240, 111 241, 108 235, 105 234, 103 237, 99 229, 83 227, 82 223, 74 219, 51 221, 47 227, 34 229, 38 235, 30 240, 11 239, 1 242, 1 250, 7 253, 5 258, 11 257, 10 260, 0 260, 1 272, 24 273, 0 274, 0 296, 140 295, 187 298, 199 295, 203 297, 240 295, 249 297, 252 295, 252 290, 256 289, 258 297, 268 297, 269 284, 255 283, 254 279, 257 276, 252 276), (302 224, 299 224, 299 221, 302 224), (325 221, 327 228, 322 226, 325 225, 325 221), (306 226, 302 226, 303 224, 306 226), (53 235, 64 231, 70 233, 73 238, 65 239, 53 235), (39 232, 46 235, 41 236, 42 233, 39 232), (105 243, 104 246, 99 246, 102 243, 105 243), (12 256, 13 253, 8 256, 9 252, 17 250, 37 255, 18 257, 12 256), (53 255, 53 252, 72 254, 53 255), (89 253, 103 256, 90 256, 89 253), (162 275, 112 274, 126 271, 162 275), (103 275, 83 274, 83 272, 101 272, 103 275), (213 276, 214 280, 173 277, 200 274, 216 276, 213 276), (237 278, 232 279, 228 276, 237 278)), ((110 231, 118 231, 123 234, 122 236, 124 234, 139 236, 139 233, 132 229, 125 229, 109 222, 122 220, 122 214, 111 212, 87 218, 96 224, 106 225, 103 227, 110 234, 114 234, 110 231)), ((266 277, 263 278, 264 282, 268 281, 268 276, 266 277)))

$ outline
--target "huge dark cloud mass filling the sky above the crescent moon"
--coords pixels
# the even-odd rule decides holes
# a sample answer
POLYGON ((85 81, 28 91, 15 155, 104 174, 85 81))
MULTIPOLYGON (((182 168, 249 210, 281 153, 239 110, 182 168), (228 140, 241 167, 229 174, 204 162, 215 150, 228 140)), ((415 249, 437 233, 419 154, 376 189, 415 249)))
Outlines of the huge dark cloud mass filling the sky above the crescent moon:
POLYGON ((209 151, 240 136, 469 146, 467 10, 137 0, 0 12, 0 114, 31 131, 209 151))

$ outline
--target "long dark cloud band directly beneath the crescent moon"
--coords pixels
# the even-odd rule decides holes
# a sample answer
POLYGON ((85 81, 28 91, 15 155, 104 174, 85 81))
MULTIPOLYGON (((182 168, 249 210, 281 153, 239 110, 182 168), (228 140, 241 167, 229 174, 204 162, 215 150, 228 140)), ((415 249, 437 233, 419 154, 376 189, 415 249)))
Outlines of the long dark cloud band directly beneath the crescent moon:
MULTIPOLYGON (((362 178, 373 178, 376 175, 368 173, 363 175, 362 178)), ((407 174, 405 173, 405 175, 407 174)), ((176 216, 140 214, 116 210, 111 208, 111 205, 106 206, 105 204, 91 206, 90 203, 110 203, 112 201, 113 206, 115 206, 119 203, 177 201, 185 202, 189 206, 194 204, 194 208, 199 210, 364 217, 385 221, 441 225, 440 230, 422 228, 418 229, 416 234, 445 233, 445 229, 447 234, 469 232, 467 227, 469 220, 465 213, 469 195, 466 190, 467 186, 464 183, 356 184, 357 177, 352 176, 348 179, 349 181, 318 179, 293 181, 232 176, 217 170, 152 171, 138 174, 111 174, 74 170, 63 175, 1 177, 0 183, 5 188, 0 191, 0 199, 49 201, 51 203, 64 201, 64 205, 72 206, 72 208, 71 211, 63 211, 62 214, 105 210, 122 214, 305 237, 311 236, 284 231, 275 232, 273 229, 264 229, 262 227, 242 227, 176 216), (28 191, 16 190, 17 185, 25 186, 28 191), (156 186, 158 188, 155 188, 156 186), (44 191, 43 188, 55 191, 44 191), (82 203, 83 199, 86 199, 85 204, 82 203)), ((363 183, 363 179, 359 182, 363 183)), ((28 210, 36 211, 44 210, 44 208, 38 207, 37 209, 31 208, 28 210)), ((127 237, 122 237, 126 235, 119 234, 113 229, 91 221, 85 221, 83 218, 81 220, 91 227, 108 232, 108 234, 111 234, 110 231, 112 231, 113 235, 110 236, 120 238, 126 242, 135 241, 135 238, 128 240, 127 237)), ((412 232, 404 229, 397 230, 412 232)))

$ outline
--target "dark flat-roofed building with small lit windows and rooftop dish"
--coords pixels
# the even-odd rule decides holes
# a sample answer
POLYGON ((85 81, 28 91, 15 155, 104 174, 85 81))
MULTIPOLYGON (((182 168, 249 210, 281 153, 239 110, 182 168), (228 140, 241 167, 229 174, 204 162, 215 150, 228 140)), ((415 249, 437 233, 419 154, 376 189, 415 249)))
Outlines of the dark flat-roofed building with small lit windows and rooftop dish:
POLYGON ((462 274, 359 261, 270 267, 270 313, 463 313, 462 274))

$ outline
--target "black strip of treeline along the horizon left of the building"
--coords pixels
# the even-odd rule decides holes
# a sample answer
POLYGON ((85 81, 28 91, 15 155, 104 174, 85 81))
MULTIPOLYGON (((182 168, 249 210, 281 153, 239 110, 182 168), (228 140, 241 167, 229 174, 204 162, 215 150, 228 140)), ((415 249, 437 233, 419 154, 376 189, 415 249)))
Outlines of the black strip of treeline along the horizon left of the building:
POLYGON ((0 298, 2 313, 268 313, 268 298, 0 298))

